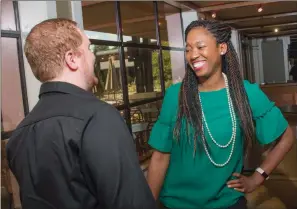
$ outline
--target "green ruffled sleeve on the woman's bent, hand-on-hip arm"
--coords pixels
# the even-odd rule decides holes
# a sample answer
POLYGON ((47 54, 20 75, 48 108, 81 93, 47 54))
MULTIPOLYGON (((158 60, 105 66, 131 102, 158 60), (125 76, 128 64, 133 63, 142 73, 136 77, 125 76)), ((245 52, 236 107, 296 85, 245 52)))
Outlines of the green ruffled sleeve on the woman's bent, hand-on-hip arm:
POLYGON ((246 82, 247 93, 256 124, 256 137, 260 144, 278 139, 288 127, 280 109, 270 101, 258 84, 246 82))

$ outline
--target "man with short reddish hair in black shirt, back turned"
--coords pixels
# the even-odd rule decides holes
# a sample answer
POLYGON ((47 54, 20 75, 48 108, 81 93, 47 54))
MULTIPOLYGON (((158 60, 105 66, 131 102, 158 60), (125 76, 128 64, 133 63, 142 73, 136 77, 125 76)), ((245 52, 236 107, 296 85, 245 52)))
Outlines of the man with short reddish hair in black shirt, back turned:
POLYGON ((7 145, 22 208, 156 208, 124 120, 90 92, 87 36, 71 20, 51 19, 31 30, 24 48, 42 86, 7 145))

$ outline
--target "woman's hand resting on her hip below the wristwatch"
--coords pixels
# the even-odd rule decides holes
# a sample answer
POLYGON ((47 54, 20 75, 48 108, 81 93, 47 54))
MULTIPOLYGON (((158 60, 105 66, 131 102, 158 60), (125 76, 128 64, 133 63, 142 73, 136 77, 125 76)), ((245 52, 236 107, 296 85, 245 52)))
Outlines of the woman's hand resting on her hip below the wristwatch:
POLYGON ((233 173, 232 176, 237 177, 237 179, 228 181, 228 187, 243 193, 253 192, 264 181, 264 178, 258 173, 248 177, 239 173, 233 173))

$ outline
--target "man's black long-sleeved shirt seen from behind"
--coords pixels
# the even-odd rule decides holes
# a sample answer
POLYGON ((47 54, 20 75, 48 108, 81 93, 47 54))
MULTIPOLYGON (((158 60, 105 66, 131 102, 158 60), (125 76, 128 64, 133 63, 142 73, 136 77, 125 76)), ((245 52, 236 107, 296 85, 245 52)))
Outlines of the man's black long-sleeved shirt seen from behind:
POLYGON ((119 112, 91 92, 44 83, 9 139, 23 209, 153 209, 132 136, 119 112))

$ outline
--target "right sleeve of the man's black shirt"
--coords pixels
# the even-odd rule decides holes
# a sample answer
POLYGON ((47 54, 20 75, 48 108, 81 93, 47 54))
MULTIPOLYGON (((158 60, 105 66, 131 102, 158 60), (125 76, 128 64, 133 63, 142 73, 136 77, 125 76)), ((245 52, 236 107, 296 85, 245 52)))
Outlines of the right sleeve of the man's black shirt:
POLYGON ((108 106, 95 114, 82 140, 84 177, 100 208, 157 208, 132 136, 117 110, 108 106))

